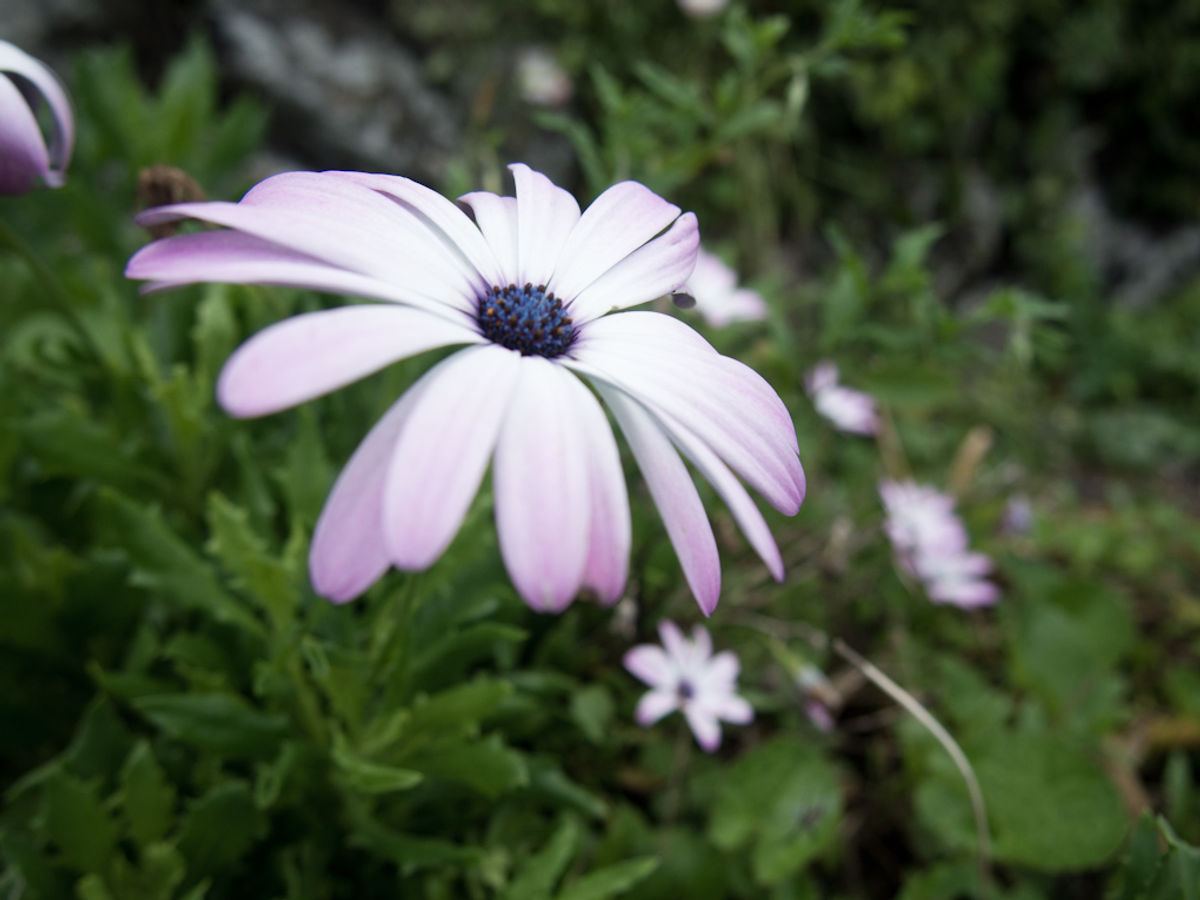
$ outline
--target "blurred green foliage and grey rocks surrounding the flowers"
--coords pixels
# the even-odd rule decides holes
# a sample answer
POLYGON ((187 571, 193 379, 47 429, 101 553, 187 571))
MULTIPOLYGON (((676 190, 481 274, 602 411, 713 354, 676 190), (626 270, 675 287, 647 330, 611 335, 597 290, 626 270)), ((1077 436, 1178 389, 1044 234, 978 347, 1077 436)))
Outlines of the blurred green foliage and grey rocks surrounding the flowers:
POLYGON ((0 205, 55 281, 0 248, 5 898, 1196 895, 1200 4, 698 6, 2 0, 78 133, 64 188, 0 205), (714 756, 632 722, 622 654, 700 616, 631 467, 616 611, 528 612, 486 492, 335 610, 312 524, 427 361, 233 422, 229 350, 329 299, 121 277, 151 166, 232 200, 294 168, 509 192, 512 161, 695 210, 767 301, 674 312, 780 391, 809 474, 768 515, 782 586, 708 504, 757 712, 714 756), (875 440, 812 408, 822 359, 875 440), (994 608, 898 570, 886 478, 956 498, 994 608), (823 635, 962 745, 983 864, 944 748, 823 635))

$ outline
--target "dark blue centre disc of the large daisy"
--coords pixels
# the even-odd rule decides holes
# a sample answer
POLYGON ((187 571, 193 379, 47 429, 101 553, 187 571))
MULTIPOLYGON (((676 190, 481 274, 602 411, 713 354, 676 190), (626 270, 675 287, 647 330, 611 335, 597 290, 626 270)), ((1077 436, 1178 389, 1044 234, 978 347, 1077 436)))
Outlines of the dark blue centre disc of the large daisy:
POLYGON ((479 299, 475 316, 488 341, 522 356, 562 356, 575 343, 575 325, 563 301, 545 284, 492 287, 479 299))

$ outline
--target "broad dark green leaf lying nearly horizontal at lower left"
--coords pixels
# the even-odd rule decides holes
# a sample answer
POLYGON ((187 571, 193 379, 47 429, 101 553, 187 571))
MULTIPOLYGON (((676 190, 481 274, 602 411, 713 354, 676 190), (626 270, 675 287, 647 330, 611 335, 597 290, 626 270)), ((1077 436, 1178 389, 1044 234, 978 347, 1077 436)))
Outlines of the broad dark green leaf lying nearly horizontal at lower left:
POLYGON ((139 697, 133 707, 170 737, 230 757, 269 758, 287 732, 283 716, 230 694, 139 697))

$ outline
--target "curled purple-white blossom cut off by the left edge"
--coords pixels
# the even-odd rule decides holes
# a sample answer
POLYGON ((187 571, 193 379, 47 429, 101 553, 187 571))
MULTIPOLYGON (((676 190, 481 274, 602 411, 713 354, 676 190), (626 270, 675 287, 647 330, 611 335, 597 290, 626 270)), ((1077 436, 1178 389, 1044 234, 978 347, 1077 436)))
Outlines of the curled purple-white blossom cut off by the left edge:
POLYGON ((18 47, 0 41, 0 194, 22 194, 38 182, 62 184, 74 145, 74 119, 54 73, 18 47), (37 107, 50 110, 42 133, 37 107))

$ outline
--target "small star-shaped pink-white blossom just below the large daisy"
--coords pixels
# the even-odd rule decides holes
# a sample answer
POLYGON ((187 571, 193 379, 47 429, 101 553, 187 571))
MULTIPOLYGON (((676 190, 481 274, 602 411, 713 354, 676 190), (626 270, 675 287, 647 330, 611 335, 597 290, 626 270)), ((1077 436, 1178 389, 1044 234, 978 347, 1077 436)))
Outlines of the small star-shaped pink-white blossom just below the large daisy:
POLYGON ((625 668, 650 686, 637 703, 637 722, 649 726, 679 710, 696 743, 712 752, 721 743, 720 722, 754 719, 754 709, 736 692, 738 658, 730 650, 714 656, 713 638, 702 625, 689 641, 673 622, 664 622, 659 637, 661 647, 646 643, 625 654, 625 668))

